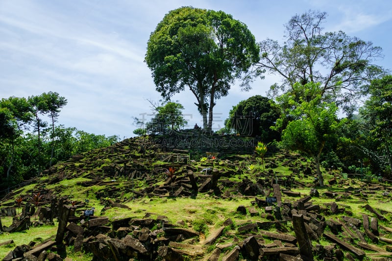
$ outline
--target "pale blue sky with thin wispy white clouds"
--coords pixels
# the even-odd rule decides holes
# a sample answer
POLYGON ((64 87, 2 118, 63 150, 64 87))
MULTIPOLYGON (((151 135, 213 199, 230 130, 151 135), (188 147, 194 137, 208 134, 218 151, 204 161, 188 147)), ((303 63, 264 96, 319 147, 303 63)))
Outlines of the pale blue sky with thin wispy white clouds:
MULTIPOLYGON (((147 41, 165 14, 181 6, 221 10, 247 25, 257 42, 284 41, 284 24, 308 10, 327 12, 324 31, 383 48, 378 65, 392 69, 392 1, 389 0, 0 0, 0 99, 57 92, 67 99, 58 124, 96 135, 131 138, 133 117, 151 119, 158 103, 144 62, 147 41)), ((237 81, 214 107, 213 129, 223 127, 232 106, 266 96, 275 75, 256 80, 249 92, 237 81)), ((196 98, 184 91, 188 121, 202 126, 196 98)))

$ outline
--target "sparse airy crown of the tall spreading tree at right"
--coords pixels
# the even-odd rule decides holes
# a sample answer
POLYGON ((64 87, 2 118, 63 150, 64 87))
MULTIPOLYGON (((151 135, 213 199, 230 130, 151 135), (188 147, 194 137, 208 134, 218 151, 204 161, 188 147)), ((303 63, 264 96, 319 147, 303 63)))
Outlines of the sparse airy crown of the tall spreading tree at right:
POLYGON ((260 43, 257 72, 282 77, 280 84, 271 86, 270 95, 293 91, 296 82, 319 82, 324 99, 352 113, 364 87, 383 72, 373 63, 382 57, 382 49, 343 31, 323 32, 326 17, 311 10, 292 17, 282 45, 271 39, 260 43))

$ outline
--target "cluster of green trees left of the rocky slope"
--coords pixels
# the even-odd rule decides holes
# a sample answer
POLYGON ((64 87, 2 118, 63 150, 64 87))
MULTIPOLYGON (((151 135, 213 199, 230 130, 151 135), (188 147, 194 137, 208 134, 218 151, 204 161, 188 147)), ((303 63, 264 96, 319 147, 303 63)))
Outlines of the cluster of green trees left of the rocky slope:
POLYGON ((58 161, 119 141, 118 136, 105 137, 55 126, 60 108, 65 105, 66 99, 52 92, 28 99, 11 96, 0 100, 1 193, 58 161), (50 130, 45 128, 43 116, 51 119, 50 130), (29 131, 31 127, 35 132, 29 131))

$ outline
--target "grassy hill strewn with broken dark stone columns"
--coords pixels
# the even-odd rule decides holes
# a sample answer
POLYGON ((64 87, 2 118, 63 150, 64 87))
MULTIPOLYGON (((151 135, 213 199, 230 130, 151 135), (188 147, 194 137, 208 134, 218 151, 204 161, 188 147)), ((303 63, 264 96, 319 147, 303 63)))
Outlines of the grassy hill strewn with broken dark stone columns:
POLYGON ((318 188, 311 161, 271 145, 263 167, 256 143, 190 130, 74 156, 1 200, 0 254, 126 261, 392 256, 389 184, 323 169, 328 185, 318 188))

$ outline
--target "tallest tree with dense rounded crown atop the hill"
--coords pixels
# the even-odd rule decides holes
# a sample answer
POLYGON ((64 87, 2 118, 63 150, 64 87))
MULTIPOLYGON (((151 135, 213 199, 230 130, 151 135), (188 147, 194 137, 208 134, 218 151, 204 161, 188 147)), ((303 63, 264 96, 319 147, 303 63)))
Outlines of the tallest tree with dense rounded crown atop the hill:
POLYGON ((150 35, 145 57, 156 90, 169 99, 189 88, 209 130, 215 100, 258 60, 259 48, 244 23, 222 11, 189 6, 165 15, 150 35))

